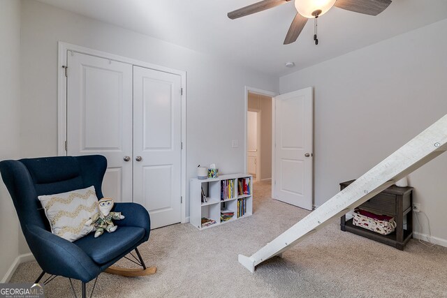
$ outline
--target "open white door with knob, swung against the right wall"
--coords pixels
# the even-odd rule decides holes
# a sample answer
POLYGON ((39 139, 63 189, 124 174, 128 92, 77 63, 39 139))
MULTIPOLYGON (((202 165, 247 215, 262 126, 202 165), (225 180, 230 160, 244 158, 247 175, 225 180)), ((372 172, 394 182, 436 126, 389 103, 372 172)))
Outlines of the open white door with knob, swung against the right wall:
POLYGON ((274 98, 273 198, 312 210, 312 87, 274 98))

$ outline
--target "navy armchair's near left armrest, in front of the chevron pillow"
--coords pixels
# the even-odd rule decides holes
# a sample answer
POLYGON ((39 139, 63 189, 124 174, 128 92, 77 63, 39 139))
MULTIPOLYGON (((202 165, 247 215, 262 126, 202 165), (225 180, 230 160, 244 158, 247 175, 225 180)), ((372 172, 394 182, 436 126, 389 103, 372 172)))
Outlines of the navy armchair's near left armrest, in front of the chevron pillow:
POLYGON ((87 283, 101 273, 81 248, 37 225, 27 225, 27 241, 43 271, 87 283))

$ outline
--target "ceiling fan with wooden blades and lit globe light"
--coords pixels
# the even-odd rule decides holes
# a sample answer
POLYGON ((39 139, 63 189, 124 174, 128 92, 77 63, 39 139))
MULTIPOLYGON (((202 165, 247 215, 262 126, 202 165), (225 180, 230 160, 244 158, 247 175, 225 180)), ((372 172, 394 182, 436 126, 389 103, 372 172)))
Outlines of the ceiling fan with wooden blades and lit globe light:
MULTIPOLYGON (((249 6, 234 10, 228 13, 231 20, 238 17, 251 15, 252 13, 259 13, 260 11, 274 8, 281 4, 290 2, 292 0, 263 0, 249 6)), ((363 13, 365 15, 379 15, 391 3, 391 0, 295 0, 295 8, 298 10, 295 18, 292 21, 291 27, 288 29, 284 45, 294 43, 300 35, 302 29, 308 19, 315 19, 315 44, 318 45, 318 38, 316 36, 317 18, 328 12, 332 6, 351 10, 356 13, 363 13)))

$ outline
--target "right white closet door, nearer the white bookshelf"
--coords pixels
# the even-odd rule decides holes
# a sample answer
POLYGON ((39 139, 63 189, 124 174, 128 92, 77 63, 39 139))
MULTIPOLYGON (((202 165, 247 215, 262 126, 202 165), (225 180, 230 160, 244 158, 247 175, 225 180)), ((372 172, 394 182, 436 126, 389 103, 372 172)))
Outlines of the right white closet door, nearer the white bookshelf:
POLYGON ((179 75, 133 66, 133 201, 151 228, 182 219, 181 87, 179 75))

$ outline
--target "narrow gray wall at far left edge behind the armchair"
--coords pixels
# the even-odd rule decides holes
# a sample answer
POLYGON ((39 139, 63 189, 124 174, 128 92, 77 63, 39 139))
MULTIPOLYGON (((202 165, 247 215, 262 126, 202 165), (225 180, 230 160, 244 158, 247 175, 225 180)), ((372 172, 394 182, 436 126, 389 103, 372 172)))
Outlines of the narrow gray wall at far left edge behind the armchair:
MULTIPOLYGON (((19 155, 20 1, 0 1, 0 161, 19 155)), ((18 256, 19 223, 6 186, 0 182, 0 280, 18 256)))

